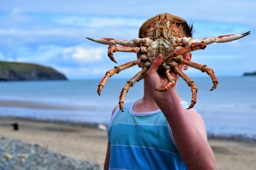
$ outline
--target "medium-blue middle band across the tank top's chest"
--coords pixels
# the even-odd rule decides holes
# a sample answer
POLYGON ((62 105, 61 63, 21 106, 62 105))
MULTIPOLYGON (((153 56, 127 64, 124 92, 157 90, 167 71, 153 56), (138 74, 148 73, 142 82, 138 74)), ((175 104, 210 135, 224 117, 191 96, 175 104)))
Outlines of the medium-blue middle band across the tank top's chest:
POLYGON ((114 124, 109 131, 109 141, 111 145, 145 146, 179 155, 167 126, 114 124))

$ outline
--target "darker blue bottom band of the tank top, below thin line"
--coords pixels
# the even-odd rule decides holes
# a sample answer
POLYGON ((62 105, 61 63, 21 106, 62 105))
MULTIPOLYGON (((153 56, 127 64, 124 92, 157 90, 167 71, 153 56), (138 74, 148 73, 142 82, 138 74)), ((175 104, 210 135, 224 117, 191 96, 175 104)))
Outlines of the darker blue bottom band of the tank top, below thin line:
POLYGON ((172 153, 145 147, 111 146, 109 169, 186 169, 172 153))

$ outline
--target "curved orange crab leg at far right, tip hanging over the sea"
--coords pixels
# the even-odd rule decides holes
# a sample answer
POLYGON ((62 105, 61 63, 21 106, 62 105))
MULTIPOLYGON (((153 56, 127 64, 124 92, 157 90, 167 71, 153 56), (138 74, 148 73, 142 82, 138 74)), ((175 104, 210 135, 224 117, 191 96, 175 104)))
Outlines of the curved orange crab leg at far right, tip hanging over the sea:
POLYGON ((211 69, 210 67, 207 67, 206 65, 198 64, 196 62, 186 61, 184 59, 182 59, 182 60, 183 60, 184 64, 186 64, 187 66, 193 67, 195 69, 199 69, 203 73, 206 72, 207 74, 209 74, 209 76, 212 79, 212 83, 213 83, 211 90, 216 89, 216 87, 218 85, 218 80, 214 74, 213 69, 211 69))

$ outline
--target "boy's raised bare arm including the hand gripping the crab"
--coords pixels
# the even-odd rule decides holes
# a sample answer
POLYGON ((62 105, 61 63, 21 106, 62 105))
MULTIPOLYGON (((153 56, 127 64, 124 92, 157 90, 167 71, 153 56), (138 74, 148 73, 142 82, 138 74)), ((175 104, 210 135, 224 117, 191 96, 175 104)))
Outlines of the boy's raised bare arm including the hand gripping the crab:
MULTIPOLYGON (((188 53, 186 53, 188 58, 188 53)), ((163 111, 172 128, 180 155, 188 168, 214 169, 215 160, 211 147, 207 143, 204 121, 193 110, 186 110, 180 104, 180 97, 175 87, 167 92, 157 92, 154 89, 164 87, 169 83, 168 78, 161 78, 157 69, 163 62, 163 55, 157 55, 147 71, 145 92, 149 92, 157 106, 163 111)), ((181 66, 180 66, 181 67, 181 66)), ((182 70, 182 67, 180 68, 182 70)), ((177 75, 173 75, 177 80, 177 75)))

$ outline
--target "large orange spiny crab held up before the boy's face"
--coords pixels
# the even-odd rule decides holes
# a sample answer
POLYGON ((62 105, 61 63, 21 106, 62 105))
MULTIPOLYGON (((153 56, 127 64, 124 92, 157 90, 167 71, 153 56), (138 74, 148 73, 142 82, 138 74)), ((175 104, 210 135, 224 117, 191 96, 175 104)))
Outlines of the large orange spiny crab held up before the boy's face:
POLYGON ((97 92, 99 96, 102 87, 104 87, 109 77, 113 76, 114 74, 120 73, 124 69, 136 66, 140 64, 140 62, 143 62, 143 69, 135 76, 133 76, 131 80, 127 81, 126 85, 122 89, 118 104, 120 110, 123 111, 125 96, 129 91, 130 87, 132 87, 132 85, 134 85, 136 81, 140 81, 145 78, 148 68, 156 59, 157 55, 161 53, 163 55, 161 69, 163 69, 165 74, 164 76, 168 78, 169 82, 164 88, 160 88, 161 85, 159 85, 156 90, 159 92, 165 92, 171 89, 176 83, 175 78, 171 74, 171 72, 174 72, 178 74, 184 81, 186 81, 189 87, 191 87, 192 99, 188 109, 193 108, 193 106, 195 106, 196 104, 197 87, 195 85, 195 82, 191 80, 189 76, 179 70, 179 64, 185 64, 186 66, 199 69, 203 73, 205 72, 209 74, 213 83, 211 90, 216 89, 218 85, 218 80, 214 74, 213 69, 207 67, 206 65, 184 60, 184 54, 186 52, 192 52, 195 50, 204 50, 205 47, 211 43, 226 43, 228 41, 234 41, 236 39, 243 38, 244 36, 250 34, 250 31, 243 34, 229 34, 218 37, 196 39, 186 37, 184 36, 184 34, 180 34, 180 32, 182 32, 182 29, 182 25, 179 25, 179 23, 177 22, 168 20, 166 18, 166 15, 164 16, 164 18, 161 18, 161 15, 159 15, 158 20, 152 22, 151 27, 148 27, 146 31, 147 37, 145 38, 134 38, 131 40, 113 38, 87 38, 97 43, 109 45, 108 57, 115 63, 116 60, 113 57, 114 52, 137 53, 137 60, 127 62, 120 66, 115 66, 113 69, 110 69, 106 72, 106 75, 104 76, 104 78, 102 78, 98 86, 97 92))

